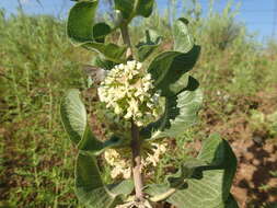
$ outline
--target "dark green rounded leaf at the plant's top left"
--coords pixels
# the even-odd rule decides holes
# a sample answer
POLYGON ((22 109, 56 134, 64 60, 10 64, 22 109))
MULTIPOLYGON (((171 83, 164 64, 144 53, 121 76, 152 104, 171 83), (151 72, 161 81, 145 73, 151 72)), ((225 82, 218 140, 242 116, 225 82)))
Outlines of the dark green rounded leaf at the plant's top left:
POLYGON ((67 34, 74 44, 93 41, 93 24, 97 1, 77 2, 70 10, 67 34))

